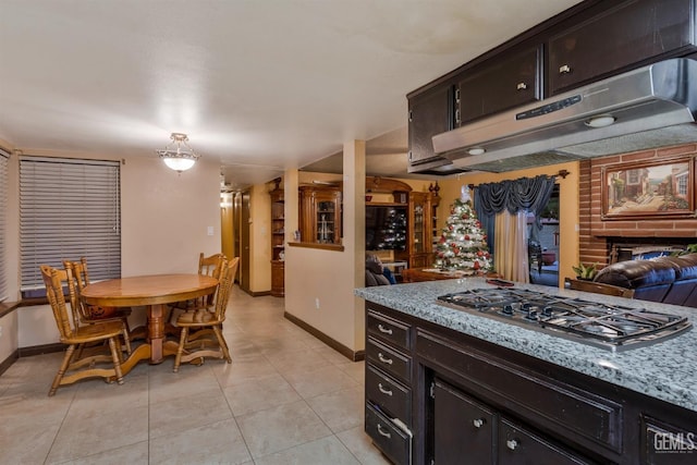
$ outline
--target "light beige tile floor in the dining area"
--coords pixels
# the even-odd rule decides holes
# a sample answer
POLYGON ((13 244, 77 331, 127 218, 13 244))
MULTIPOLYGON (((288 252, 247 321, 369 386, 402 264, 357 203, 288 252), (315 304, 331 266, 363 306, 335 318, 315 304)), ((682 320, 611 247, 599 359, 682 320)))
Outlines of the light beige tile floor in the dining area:
POLYGON ((363 431, 364 363, 283 318, 283 299, 230 298, 233 363, 142 363, 48 397, 62 354, 0 376, 1 464, 387 464, 363 431))

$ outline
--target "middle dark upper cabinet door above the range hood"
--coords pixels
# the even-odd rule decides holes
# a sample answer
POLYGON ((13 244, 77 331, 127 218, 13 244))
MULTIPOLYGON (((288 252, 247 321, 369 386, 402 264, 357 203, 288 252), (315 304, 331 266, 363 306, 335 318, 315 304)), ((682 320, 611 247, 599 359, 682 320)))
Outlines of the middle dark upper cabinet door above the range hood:
POLYGON ((497 56, 456 76, 455 126, 540 100, 541 58, 542 47, 536 45, 497 56))

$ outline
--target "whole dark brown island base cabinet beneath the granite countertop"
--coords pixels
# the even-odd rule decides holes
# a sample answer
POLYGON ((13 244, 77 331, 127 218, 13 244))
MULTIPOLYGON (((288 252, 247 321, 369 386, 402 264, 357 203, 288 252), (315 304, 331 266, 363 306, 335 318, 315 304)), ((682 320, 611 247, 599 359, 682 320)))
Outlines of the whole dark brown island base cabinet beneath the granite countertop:
POLYGON ((365 430, 395 464, 697 463, 693 409, 366 309, 365 430))

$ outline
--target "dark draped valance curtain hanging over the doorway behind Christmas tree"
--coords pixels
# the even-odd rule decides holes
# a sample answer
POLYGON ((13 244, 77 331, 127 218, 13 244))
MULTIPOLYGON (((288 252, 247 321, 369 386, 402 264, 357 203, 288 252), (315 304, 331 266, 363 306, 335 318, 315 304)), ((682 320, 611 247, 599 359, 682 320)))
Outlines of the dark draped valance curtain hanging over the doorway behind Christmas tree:
POLYGON ((479 184, 475 188, 475 211, 487 233, 489 249, 493 250, 494 217, 503 210, 511 215, 519 210, 535 213, 535 227, 530 237, 537 240, 538 231, 542 229, 540 215, 547 206, 554 191, 554 176, 539 175, 535 178, 519 178, 505 180, 500 183, 479 184))

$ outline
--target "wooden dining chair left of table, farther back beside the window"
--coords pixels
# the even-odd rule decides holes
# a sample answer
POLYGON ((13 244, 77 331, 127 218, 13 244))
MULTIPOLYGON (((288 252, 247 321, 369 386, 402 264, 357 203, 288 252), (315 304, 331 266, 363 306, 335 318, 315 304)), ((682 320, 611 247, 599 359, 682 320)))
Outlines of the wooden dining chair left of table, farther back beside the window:
POLYGON ((65 270, 70 269, 68 279, 73 280, 75 289, 75 302, 71 302, 74 311, 77 311, 80 322, 84 325, 94 325, 98 322, 118 321, 122 327, 123 347, 131 355, 131 328, 129 327, 129 317, 131 308, 117 307, 99 307, 96 305, 87 305, 80 297, 83 289, 89 284, 89 272, 87 271, 87 259, 81 257, 80 261, 63 260, 65 270))

